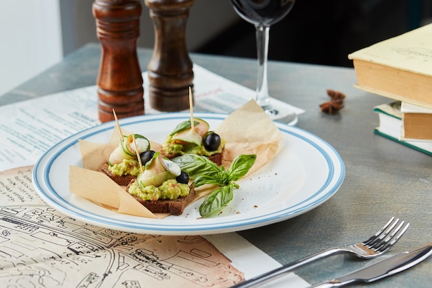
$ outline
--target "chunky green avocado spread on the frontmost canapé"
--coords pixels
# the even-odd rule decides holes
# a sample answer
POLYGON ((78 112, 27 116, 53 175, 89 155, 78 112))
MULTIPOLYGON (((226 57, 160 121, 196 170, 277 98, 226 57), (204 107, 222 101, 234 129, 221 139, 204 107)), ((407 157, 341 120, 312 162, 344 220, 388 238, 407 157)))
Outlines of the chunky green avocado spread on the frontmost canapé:
POLYGON ((175 200, 179 197, 189 195, 189 186, 188 184, 178 183, 175 179, 170 179, 166 180, 159 187, 148 185, 141 188, 137 181, 135 181, 130 184, 128 192, 130 195, 135 195, 145 201, 175 200))

